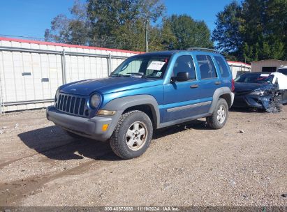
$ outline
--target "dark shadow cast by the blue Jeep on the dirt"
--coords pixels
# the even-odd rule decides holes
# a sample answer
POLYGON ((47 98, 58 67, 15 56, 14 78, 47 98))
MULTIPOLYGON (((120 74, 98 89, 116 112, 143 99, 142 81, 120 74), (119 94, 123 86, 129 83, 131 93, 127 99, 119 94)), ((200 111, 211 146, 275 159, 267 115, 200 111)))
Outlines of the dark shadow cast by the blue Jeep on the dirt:
MULTIPOLYGON (((172 135, 186 129, 208 130, 205 121, 195 120, 154 131, 153 139, 172 135)), ((110 149, 108 142, 70 137, 58 126, 49 126, 23 132, 18 135, 29 148, 54 160, 80 160, 84 157, 94 160, 120 160, 110 149)))

